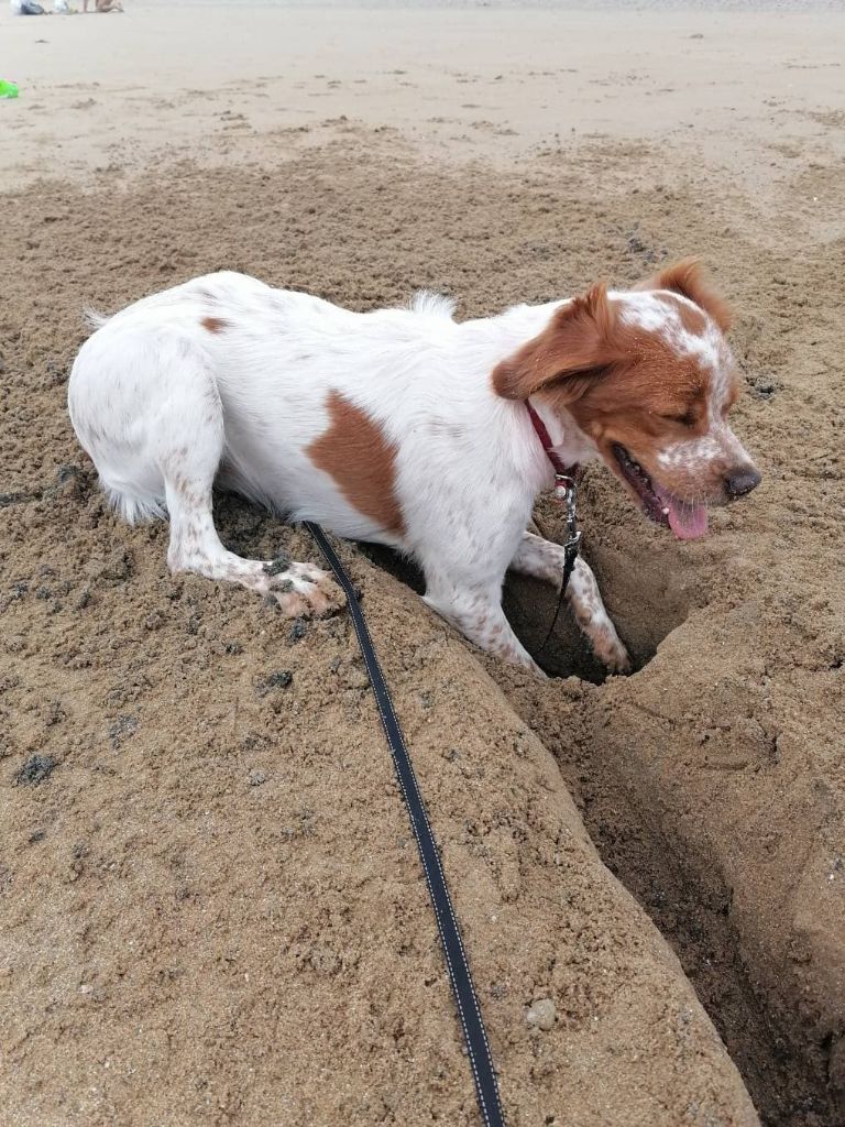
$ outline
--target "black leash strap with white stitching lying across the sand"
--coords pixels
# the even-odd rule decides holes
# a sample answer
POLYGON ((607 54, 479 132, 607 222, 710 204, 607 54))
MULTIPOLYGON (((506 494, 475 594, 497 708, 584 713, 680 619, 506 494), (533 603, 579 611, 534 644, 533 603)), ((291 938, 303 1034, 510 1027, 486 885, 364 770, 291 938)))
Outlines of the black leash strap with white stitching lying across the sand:
POLYGON ((432 906, 437 919, 437 929, 441 933, 443 953, 446 957, 446 970, 452 984, 452 993, 455 996, 457 1014, 463 1027, 464 1042, 472 1066, 472 1079, 475 1083, 475 1095, 478 1098, 481 1118, 484 1127, 505 1127, 505 1115, 501 1110, 499 1099, 499 1086, 496 1082, 496 1070, 490 1054, 490 1045, 487 1039, 487 1030, 481 1019, 481 1009, 472 982, 470 965, 466 960, 461 931, 457 926, 455 912, 452 907, 452 899, 446 887, 446 878, 441 866, 441 855, 437 851, 437 843, 432 833, 422 796, 419 792, 417 777, 413 773, 411 757, 404 744, 402 729, 393 711, 393 702, 384 681, 379 658, 375 656, 373 640, 370 637, 366 620, 361 610, 355 588, 344 570, 344 565, 335 553, 319 524, 305 521, 305 527, 317 541, 320 551, 326 557, 329 567, 335 573, 337 582, 344 588, 352 614, 353 625, 358 636, 358 645, 364 656, 364 662, 370 674, 370 682, 373 686, 375 703, 379 708, 384 727, 384 735, 390 744, 390 752, 393 756, 399 787, 402 791, 408 816, 411 819, 413 836, 417 838, 417 849, 422 862, 422 871, 428 885, 428 895, 432 897, 432 906))

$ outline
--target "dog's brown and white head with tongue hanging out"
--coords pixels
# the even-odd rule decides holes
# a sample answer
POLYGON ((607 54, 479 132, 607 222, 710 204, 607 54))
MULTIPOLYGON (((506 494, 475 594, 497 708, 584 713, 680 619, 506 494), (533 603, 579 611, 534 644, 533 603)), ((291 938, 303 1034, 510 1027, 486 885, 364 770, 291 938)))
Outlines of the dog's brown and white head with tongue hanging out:
POLYGON ((709 504, 760 480, 727 420, 739 393, 729 320, 686 259, 633 291, 596 285, 562 305, 493 387, 573 420, 646 514, 690 540, 706 532, 709 504))

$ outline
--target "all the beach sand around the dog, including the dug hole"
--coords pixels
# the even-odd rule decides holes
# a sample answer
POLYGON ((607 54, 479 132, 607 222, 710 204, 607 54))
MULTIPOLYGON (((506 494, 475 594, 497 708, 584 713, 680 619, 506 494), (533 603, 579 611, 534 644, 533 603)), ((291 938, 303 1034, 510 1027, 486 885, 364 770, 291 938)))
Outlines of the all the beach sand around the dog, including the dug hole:
MULTIPOLYGON (((0 10, 21 85, 0 103, 6 1120, 478 1122, 348 620, 292 631, 170 577, 166 526, 108 513, 64 410, 81 307, 230 267, 359 309, 430 285, 464 317, 700 252, 737 310, 765 480, 681 544, 588 474, 585 551, 633 676, 602 683, 563 622, 541 684, 398 561, 343 551, 508 1121, 753 1125, 753 1102, 836 1127, 842 14, 239 14, 0 10)), ((235 550, 317 559, 217 509, 235 550)), ((539 644, 551 593, 509 583, 507 605, 539 644)))

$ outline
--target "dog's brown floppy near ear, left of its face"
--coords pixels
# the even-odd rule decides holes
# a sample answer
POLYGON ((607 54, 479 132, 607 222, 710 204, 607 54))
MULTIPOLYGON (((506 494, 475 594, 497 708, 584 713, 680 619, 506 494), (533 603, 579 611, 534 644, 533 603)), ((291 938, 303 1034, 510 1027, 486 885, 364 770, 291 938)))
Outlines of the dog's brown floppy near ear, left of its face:
POLYGON ((493 390, 504 399, 527 399, 559 383, 560 391, 571 391, 570 398, 577 399, 594 376, 621 358, 615 323, 607 287, 593 286, 559 309, 540 336, 497 364, 493 390))

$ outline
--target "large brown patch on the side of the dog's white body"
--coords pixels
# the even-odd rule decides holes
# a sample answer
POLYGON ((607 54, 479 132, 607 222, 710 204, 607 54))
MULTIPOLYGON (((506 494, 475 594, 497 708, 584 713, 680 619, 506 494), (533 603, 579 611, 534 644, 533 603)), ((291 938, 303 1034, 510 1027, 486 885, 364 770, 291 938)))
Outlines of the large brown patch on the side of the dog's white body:
POLYGON ((379 424, 339 391, 326 403, 331 423, 305 453, 314 465, 335 479, 344 497, 359 513, 389 532, 404 532, 395 496, 395 446, 379 424))

